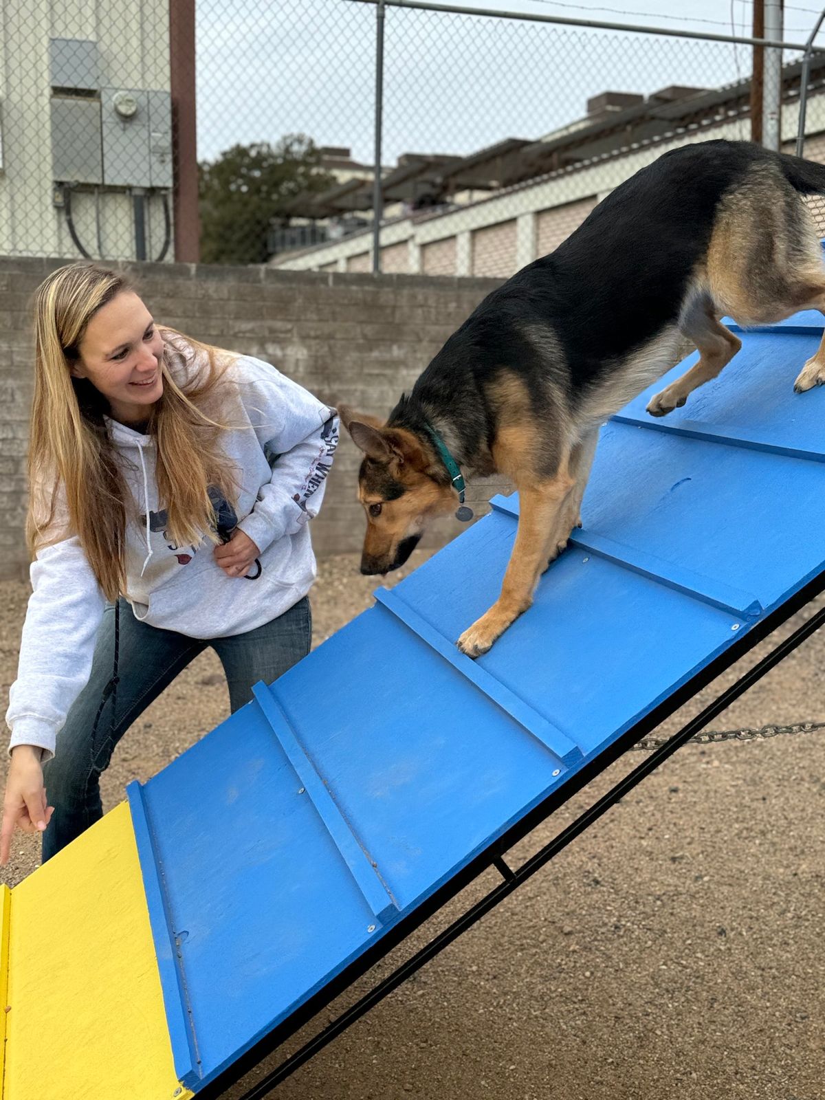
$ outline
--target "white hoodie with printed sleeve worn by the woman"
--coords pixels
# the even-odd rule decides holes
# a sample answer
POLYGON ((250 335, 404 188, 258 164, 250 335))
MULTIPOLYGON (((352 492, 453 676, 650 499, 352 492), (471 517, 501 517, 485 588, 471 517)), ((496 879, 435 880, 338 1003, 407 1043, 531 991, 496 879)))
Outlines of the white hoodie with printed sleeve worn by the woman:
MULTIPOLYGON (((338 443, 334 409, 261 360, 234 360, 220 394, 213 415, 230 426, 221 443, 240 481, 238 527, 261 551, 254 583, 228 576, 206 536, 198 546, 168 541, 154 438, 107 420, 140 516, 127 524, 125 597, 142 623, 191 638, 253 630, 307 594, 316 575, 307 521, 318 514, 338 443)), ((221 505, 216 510, 233 526, 231 505, 221 505)), ((9 748, 40 746, 45 761, 88 682, 105 600, 76 537, 41 550, 31 581, 6 721, 9 748)))

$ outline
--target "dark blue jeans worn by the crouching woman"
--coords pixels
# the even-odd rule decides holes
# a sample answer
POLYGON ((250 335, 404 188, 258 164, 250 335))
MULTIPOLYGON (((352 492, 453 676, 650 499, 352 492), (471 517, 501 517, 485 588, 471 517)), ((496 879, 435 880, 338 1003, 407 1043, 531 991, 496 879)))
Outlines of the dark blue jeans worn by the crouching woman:
POLYGON ((120 650, 117 713, 107 700, 92 739, 95 716, 112 674, 114 607, 107 607, 98 631, 89 682, 80 692, 57 734, 55 757, 43 768, 48 804, 55 807, 43 834, 43 861, 79 836, 103 815, 100 773, 109 767, 114 746, 164 688, 211 647, 220 658, 234 713, 252 698, 252 685, 272 683, 310 648, 312 619, 309 600, 271 623, 231 638, 202 640, 140 623, 129 604, 120 602, 120 650))

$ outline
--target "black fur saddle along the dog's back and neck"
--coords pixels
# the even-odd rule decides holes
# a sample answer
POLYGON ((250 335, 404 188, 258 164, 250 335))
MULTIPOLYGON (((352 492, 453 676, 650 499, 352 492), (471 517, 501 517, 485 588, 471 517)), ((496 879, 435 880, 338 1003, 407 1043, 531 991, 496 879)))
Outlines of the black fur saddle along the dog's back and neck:
MULTIPOLYGON (((461 408, 453 419, 460 449, 477 453, 480 436, 494 431, 484 408, 491 378, 503 369, 517 372, 541 417, 556 396, 546 385, 556 361, 557 394, 564 387, 574 404, 678 321, 723 198, 760 166, 773 173, 789 202, 799 202, 798 191, 825 191, 825 166, 750 142, 701 142, 666 153, 612 191, 554 252, 492 292, 388 422, 415 430, 422 408, 461 408)), ((771 248, 767 235, 754 248, 771 248)))

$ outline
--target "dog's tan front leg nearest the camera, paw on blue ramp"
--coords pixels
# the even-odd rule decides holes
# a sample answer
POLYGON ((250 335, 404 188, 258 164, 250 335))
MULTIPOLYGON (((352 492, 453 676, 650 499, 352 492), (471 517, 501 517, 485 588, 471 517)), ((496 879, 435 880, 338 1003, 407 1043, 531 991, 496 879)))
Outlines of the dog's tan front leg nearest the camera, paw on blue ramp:
POLYGON ((510 623, 527 610, 539 572, 547 560, 548 536, 558 529, 559 510, 575 485, 566 464, 551 481, 519 485, 519 520, 516 542, 502 593, 482 617, 459 638, 459 649, 468 657, 481 657, 510 623))

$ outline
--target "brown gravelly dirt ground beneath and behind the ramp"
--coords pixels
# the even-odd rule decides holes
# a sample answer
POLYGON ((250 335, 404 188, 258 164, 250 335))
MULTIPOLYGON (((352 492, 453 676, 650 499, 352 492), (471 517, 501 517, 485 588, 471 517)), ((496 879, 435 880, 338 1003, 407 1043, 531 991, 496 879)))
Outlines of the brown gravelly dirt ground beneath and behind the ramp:
MULTIPOLYGON (((321 562, 312 596, 316 642, 370 605, 375 583, 355 565, 349 556, 321 562)), ((3 700, 26 598, 25 585, 0 584, 3 700)), ((823 658, 825 635, 815 635, 713 728, 825 721, 823 658)), ((667 728, 743 670, 721 678, 667 728)), ((131 779, 148 779, 217 725, 227 707, 220 666, 207 652, 121 743, 103 779, 105 806, 122 800, 131 779)), ((640 752, 628 754, 509 861, 520 862, 640 760, 640 752)), ((688 745, 276 1094, 821 1100, 823 811, 825 730, 688 745)), ((4 880, 19 882, 37 860, 37 842, 18 834, 4 880)), ((268 1068, 497 881, 487 872, 469 887, 268 1068)), ((241 1094, 239 1086, 226 1096, 241 1094)))

